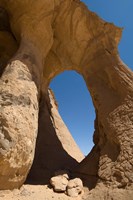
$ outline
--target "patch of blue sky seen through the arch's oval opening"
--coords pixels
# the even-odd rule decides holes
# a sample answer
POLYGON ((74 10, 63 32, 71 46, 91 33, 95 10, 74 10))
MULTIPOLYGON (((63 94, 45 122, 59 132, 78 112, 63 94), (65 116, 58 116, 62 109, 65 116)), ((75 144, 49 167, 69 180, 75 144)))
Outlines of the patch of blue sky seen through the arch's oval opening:
POLYGON ((55 95, 59 113, 72 137, 86 156, 94 146, 95 109, 83 77, 76 71, 55 76, 49 87, 55 95))

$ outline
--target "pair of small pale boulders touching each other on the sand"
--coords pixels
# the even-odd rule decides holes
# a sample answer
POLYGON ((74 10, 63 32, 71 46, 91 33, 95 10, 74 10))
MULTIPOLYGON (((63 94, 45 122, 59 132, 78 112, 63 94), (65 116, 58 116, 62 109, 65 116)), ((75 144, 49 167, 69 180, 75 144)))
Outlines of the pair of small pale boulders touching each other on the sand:
POLYGON ((83 192, 83 183, 80 178, 69 179, 66 171, 58 171, 50 179, 55 192, 64 192, 70 197, 77 197, 83 192))

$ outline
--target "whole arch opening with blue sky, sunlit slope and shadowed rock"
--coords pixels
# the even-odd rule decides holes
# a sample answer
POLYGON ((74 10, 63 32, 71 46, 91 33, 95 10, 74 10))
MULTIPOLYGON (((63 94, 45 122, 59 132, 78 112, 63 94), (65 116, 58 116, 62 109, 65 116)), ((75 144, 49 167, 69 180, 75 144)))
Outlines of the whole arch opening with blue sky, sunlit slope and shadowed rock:
POLYGON ((95 110, 83 77, 73 70, 64 71, 53 77, 49 87, 40 102, 28 183, 48 183, 57 170, 78 169, 94 146, 95 110))

